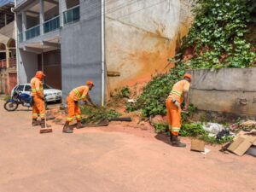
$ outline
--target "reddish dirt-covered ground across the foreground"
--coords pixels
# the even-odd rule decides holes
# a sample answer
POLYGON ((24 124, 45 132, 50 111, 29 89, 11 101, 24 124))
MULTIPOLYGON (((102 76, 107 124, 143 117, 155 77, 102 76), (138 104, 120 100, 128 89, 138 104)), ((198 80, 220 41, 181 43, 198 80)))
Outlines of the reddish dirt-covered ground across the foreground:
MULTIPOLYGON (((122 123, 63 134, 39 134, 31 111, 0 102, 1 192, 256 191, 256 159, 173 148, 154 131, 122 123)), ((50 107, 52 108, 52 106, 50 107)))

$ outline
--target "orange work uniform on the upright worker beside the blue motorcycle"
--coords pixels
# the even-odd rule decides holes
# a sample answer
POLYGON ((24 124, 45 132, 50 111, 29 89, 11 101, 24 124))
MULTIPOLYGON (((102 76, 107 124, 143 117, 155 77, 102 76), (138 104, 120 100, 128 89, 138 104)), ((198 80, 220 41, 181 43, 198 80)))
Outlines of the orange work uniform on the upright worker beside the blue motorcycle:
POLYGON ((31 79, 31 88, 33 96, 32 119, 45 118, 44 107, 44 88, 43 83, 37 77, 31 79))

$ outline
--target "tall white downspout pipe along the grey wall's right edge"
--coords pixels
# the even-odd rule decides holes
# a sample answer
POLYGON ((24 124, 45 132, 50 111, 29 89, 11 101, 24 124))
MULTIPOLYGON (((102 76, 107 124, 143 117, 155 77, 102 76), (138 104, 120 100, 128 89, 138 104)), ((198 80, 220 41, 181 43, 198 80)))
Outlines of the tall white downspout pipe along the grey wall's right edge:
POLYGON ((102 106, 105 100, 105 0, 102 0, 102 106))

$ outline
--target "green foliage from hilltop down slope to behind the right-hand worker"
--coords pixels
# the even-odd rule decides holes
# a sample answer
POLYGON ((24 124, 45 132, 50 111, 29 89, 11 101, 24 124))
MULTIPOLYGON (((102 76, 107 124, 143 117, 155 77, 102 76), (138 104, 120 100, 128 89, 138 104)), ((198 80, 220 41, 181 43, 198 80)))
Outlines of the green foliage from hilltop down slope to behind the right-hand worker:
MULTIPOLYGON (((138 96, 137 102, 127 105, 127 111, 142 109, 143 116, 165 115, 166 97, 173 84, 183 79, 186 69, 253 67, 255 50, 245 40, 247 25, 253 20, 255 5, 251 0, 198 0, 194 9, 195 21, 183 38, 179 53, 168 61, 175 62, 169 73, 155 76, 138 96), (193 49, 186 60, 186 49, 193 49)), ((184 116, 184 115, 183 115, 184 116)))

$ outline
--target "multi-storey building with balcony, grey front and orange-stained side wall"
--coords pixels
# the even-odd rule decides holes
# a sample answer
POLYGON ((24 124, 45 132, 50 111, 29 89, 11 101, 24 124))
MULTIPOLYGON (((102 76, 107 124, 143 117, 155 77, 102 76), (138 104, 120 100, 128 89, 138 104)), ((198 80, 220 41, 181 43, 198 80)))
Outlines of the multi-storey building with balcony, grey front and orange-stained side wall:
POLYGON ((191 21, 189 0, 16 0, 20 83, 40 69, 63 98, 87 79, 97 103, 172 65, 191 21), (114 74, 114 75, 113 75, 114 74))

